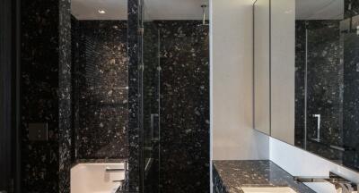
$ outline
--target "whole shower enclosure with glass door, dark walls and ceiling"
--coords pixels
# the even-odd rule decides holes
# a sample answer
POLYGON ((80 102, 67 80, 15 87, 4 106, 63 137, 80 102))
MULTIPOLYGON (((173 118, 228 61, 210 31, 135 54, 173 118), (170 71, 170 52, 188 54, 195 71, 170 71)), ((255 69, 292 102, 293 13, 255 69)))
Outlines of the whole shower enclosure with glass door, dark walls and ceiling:
POLYGON ((143 2, 141 192, 209 192, 206 6, 206 1, 143 2))

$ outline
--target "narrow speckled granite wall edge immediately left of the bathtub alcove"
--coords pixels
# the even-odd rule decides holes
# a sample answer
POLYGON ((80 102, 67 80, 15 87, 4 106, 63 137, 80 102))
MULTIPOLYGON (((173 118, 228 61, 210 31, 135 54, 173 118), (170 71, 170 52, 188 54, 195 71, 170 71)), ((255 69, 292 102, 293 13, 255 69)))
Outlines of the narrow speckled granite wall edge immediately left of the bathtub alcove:
POLYGON ((58 60, 58 186, 60 193, 70 192, 70 172, 74 164, 74 127, 71 105, 71 0, 59 0, 59 60, 58 60))

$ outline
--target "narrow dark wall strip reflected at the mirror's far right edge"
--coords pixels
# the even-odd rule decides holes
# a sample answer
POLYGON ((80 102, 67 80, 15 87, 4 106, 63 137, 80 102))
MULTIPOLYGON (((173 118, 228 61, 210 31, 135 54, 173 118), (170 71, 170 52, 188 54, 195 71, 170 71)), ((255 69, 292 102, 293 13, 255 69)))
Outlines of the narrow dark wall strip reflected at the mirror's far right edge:
POLYGON ((344 46, 344 152, 343 164, 359 170, 359 2, 346 1, 346 21, 352 18, 351 29, 342 29, 344 46), (349 6, 349 3, 352 3, 349 6), (349 10, 349 8, 351 8, 349 10))

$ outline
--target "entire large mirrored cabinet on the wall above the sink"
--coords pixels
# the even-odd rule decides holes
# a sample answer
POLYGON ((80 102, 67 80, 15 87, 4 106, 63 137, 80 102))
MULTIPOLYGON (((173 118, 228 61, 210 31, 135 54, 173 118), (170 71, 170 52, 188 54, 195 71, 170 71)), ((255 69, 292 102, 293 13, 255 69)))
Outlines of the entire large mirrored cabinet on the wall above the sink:
POLYGON ((255 129, 359 171, 359 1, 265 1, 253 9, 255 129))

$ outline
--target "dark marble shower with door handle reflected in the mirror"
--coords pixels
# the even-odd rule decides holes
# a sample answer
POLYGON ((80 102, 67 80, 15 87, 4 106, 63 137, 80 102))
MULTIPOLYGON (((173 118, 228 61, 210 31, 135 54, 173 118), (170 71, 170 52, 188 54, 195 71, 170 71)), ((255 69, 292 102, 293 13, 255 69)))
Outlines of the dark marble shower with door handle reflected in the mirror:
POLYGON ((306 23, 304 145, 345 165, 357 165, 359 16, 306 23), (323 36, 323 34, 326 34, 323 36))

